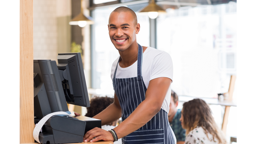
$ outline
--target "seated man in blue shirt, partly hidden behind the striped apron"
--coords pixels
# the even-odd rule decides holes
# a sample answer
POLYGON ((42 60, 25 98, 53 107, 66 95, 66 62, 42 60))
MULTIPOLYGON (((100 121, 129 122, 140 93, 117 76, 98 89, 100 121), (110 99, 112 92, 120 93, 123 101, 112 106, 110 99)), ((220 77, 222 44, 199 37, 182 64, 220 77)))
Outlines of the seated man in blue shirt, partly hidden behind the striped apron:
POLYGON ((170 101, 170 110, 168 113, 168 121, 170 126, 175 134, 177 139, 177 144, 184 144, 186 138, 186 130, 182 128, 180 117, 181 117, 181 109, 177 109, 178 106, 178 95, 172 91, 171 93, 171 101, 170 101))

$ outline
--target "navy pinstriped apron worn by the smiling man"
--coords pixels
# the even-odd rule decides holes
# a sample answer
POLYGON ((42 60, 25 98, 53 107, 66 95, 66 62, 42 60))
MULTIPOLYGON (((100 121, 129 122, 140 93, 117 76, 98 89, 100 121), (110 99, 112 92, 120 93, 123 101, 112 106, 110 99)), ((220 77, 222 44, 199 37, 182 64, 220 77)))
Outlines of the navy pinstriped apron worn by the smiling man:
MULTIPOLYGON (((116 78, 117 63, 113 86, 115 94, 122 108, 122 121, 124 121, 145 100, 146 86, 142 79, 143 49, 138 44, 137 77, 116 78)), ((123 144, 176 144, 176 137, 168 122, 168 113, 161 110, 144 126, 122 138, 123 144)))

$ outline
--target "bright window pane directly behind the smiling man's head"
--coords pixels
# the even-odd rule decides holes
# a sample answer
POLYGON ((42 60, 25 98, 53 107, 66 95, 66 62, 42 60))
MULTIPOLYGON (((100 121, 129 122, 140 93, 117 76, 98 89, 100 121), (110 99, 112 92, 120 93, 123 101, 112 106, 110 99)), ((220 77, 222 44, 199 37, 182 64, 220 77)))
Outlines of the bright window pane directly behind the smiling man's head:
MULTIPOLYGON (((94 45, 92 49, 92 88, 101 89, 99 93, 114 95, 110 77, 112 63, 119 57, 118 50, 112 44, 108 34, 108 18, 117 7, 94 10, 94 45)), ((136 13, 140 32, 136 35, 137 42, 149 46, 149 18, 136 13)))

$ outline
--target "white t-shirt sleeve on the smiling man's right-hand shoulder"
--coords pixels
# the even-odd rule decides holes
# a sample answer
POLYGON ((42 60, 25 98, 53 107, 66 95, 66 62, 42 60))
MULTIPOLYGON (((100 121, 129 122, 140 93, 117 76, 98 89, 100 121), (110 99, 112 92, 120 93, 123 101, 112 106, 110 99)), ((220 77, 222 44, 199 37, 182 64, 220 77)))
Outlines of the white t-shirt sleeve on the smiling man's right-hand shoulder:
POLYGON ((167 77, 173 80, 173 64, 171 56, 166 52, 158 54, 152 62, 151 71, 150 80, 159 77, 167 77))

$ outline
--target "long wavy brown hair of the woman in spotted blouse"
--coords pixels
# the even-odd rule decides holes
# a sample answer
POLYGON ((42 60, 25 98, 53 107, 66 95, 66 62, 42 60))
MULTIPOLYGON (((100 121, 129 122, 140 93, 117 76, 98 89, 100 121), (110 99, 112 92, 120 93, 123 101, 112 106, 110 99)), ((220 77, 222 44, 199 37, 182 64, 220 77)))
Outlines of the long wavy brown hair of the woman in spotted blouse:
POLYGON ((213 135, 213 140, 216 138, 220 144, 226 143, 222 131, 214 121, 210 107, 202 99, 193 99, 185 102, 182 115, 186 135, 197 126, 200 126, 206 133, 209 132, 213 135))

